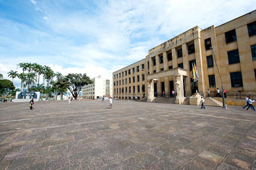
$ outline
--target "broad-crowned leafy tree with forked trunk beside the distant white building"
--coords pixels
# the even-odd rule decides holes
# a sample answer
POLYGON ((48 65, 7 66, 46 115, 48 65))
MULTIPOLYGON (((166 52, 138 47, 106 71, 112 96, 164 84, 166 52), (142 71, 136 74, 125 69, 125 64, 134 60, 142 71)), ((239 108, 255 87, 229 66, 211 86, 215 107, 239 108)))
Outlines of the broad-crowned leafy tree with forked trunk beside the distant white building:
POLYGON ((73 97, 76 99, 79 91, 82 89, 84 85, 92 84, 93 82, 90 80, 89 77, 86 76, 86 74, 71 74, 65 76, 66 80, 70 83, 70 86, 68 87, 69 91, 73 95, 73 97))

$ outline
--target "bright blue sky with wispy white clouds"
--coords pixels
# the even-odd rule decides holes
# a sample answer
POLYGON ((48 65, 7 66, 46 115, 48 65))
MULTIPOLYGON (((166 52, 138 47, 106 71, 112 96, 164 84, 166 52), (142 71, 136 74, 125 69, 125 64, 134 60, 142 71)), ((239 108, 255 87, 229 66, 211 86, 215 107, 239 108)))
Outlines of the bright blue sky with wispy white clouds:
MULTIPOLYGON (((18 63, 30 62, 63 75, 112 77, 186 30, 218 26, 255 10, 255 4, 256 0, 0 0, 0 73, 10 79, 7 73, 18 63)), ((20 87, 18 78, 13 83, 20 87)))

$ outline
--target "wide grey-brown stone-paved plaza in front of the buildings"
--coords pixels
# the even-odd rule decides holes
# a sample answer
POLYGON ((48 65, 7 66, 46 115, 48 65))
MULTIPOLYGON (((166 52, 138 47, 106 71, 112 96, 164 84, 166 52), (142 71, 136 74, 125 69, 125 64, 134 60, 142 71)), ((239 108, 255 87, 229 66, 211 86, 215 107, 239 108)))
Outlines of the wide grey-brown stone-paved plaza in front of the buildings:
POLYGON ((0 104, 0 169, 256 169, 256 112, 99 100, 0 104), (254 168, 253 168, 254 167, 254 168))

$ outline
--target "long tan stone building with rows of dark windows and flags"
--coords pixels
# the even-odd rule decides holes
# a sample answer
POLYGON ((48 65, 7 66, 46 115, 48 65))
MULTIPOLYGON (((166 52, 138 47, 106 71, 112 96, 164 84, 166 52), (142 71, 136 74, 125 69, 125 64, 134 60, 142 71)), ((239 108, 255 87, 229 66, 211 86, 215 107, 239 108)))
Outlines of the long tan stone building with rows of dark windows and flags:
POLYGON ((221 89, 220 76, 227 93, 256 93, 256 11, 247 13, 218 27, 190 30, 154 47, 148 56, 113 73, 113 96, 118 99, 172 96, 176 103, 198 90, 205 96, 207 89, 221 89), (199 74, 192 79, 192 65, 199 74))

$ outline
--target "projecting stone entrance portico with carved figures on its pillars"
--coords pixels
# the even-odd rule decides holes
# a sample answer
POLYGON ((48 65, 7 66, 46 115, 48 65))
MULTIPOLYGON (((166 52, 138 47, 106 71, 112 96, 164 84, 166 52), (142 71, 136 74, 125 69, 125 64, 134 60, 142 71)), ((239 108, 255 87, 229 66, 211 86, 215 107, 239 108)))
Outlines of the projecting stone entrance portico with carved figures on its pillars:
MULTIPOLYGON (((181 104, 184 101, 183 80, 185 78, 184 76, 188 76, 188 71, 186 69, 173 68, 171 70, 148 74, 148 99, 147 99, 148 102, 152 102, 155 98, 154 97, 154 81, 158 81, 160 78, 168 78, 169 76, 173 76, 174 90, 177 91, 175 103, 181 104)), ((167 85, 164 86, 165 94, 169 94, 171 92, 169 87, 170 86, 167 86, 167 85)))

